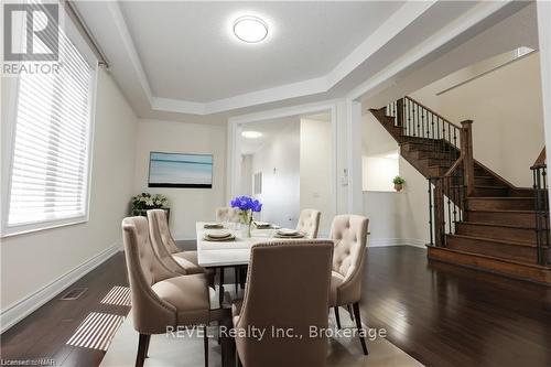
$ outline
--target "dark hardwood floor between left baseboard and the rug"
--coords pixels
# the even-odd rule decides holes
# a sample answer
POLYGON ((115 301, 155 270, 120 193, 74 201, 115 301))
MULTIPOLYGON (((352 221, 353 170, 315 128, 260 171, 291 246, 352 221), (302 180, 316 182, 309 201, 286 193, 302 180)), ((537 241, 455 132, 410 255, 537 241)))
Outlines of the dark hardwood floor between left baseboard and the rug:
POLYGON ((118 252, 80 278, 68 289, 87 288, 73 301, 60 300, 66 291, 23 319, 0 337, 2 361, 52 359, 54 366, 98 366, 105 353, 67 345, 78 325, 90 312, 127 315, 129 307, 101 304, 115 285, 128 285, 125 255, 118 252))

